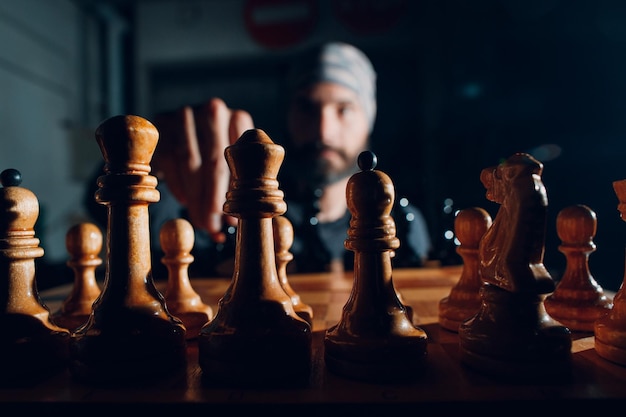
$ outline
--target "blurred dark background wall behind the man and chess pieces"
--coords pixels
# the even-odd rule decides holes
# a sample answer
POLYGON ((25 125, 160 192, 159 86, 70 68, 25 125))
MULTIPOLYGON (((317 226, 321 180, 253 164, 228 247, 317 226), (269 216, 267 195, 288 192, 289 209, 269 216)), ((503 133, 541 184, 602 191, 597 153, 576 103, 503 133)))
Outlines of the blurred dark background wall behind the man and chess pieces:
POLYGON ((218 96, 280 142, 287 63, 332 39, 373 61, 378 167, 424 211, 434 258, 459 261, 445 237, 454 212, 495 216, 480 170, 523 151, 544 163, 553 276, 556 216, 586 204, 598 217, 591 271, 606 288, 622 282, 620 0, 7 0, 0 34, 0 169, 22 171, 40 199, 43 262, 64 262, 67 229, 86 219, 102 120, 218 96))

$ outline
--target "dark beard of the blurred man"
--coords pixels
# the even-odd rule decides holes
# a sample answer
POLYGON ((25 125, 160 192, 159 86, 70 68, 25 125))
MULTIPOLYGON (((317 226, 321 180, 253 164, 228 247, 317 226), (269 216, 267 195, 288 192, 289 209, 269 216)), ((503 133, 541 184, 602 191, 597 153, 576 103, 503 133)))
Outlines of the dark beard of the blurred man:
POLYGON ((314 188, 334 184, 359 171, 357 158, 347 155, 341 149, 331 148, 321 143, 305 145, 295 151, 302 179, 314 188), (330 161, 320 158, 319 155, 330 150, 335 152, 343 163, 340 167, 333 166, 330 161))

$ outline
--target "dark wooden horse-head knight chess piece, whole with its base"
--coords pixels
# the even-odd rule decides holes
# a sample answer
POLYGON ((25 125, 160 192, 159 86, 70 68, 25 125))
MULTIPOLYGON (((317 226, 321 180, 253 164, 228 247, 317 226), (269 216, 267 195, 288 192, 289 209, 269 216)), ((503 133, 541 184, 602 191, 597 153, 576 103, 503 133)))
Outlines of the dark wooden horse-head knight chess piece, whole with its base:
POLYGON ((571 370, 569 329, 545 311, 554 281, 543 264, 548 196, 543 164, 516 153, 480 179, 500 204, 480 240, 481 305, 459 326, 461 361, 510 379, 559 379, 571 370))

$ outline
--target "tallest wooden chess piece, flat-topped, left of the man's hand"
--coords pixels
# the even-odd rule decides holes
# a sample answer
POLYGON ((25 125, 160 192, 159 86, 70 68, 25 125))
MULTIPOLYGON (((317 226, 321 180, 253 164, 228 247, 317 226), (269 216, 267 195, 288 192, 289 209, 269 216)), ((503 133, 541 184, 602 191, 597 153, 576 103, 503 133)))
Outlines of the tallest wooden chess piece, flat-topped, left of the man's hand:
POLYGON ((107 206, 105 277, 87 322, 72 334, 70 371, 80 381, 155 380, 186 365, 185 327, 165 306, 152 278, 148 204, 159 201, 149 175, 156 128, 115 116, 96 130, 105 159, 98 203, 107 206))

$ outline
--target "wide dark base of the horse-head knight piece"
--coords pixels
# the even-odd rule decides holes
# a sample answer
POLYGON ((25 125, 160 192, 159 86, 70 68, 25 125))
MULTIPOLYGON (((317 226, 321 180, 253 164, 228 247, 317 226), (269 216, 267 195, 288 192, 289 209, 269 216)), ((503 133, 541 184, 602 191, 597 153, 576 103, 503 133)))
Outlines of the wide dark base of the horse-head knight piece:
POLYGON ((481 299, 478 313, 459 327, 465 365, 512 378, 569 374, 571 333, 548 316, 542 296, 511 293, 486 284, 481 299))

